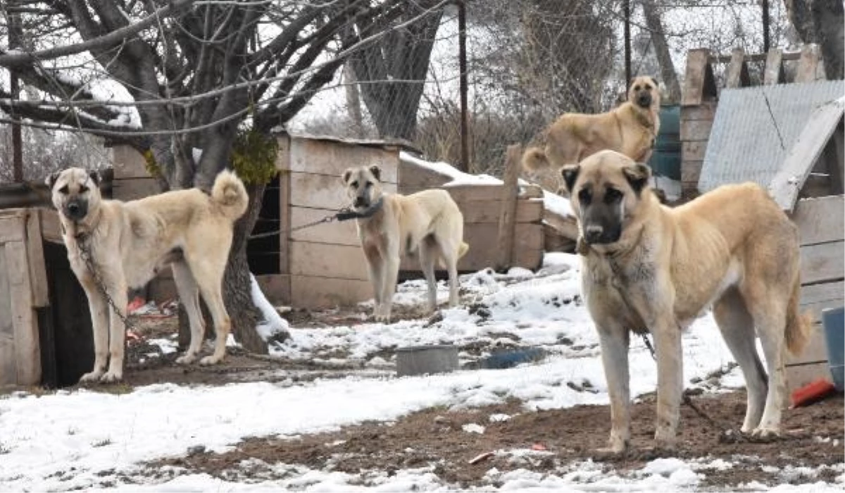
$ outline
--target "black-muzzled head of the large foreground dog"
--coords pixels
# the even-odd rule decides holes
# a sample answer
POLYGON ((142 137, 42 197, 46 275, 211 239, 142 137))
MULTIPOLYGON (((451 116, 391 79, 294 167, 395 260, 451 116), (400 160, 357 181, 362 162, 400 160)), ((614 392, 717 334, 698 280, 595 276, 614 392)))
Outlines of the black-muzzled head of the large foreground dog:
POLYGON ((614 244, 646 200, 651 168, 616 151, 599 151, 561 170, 587 244, 614 244))

